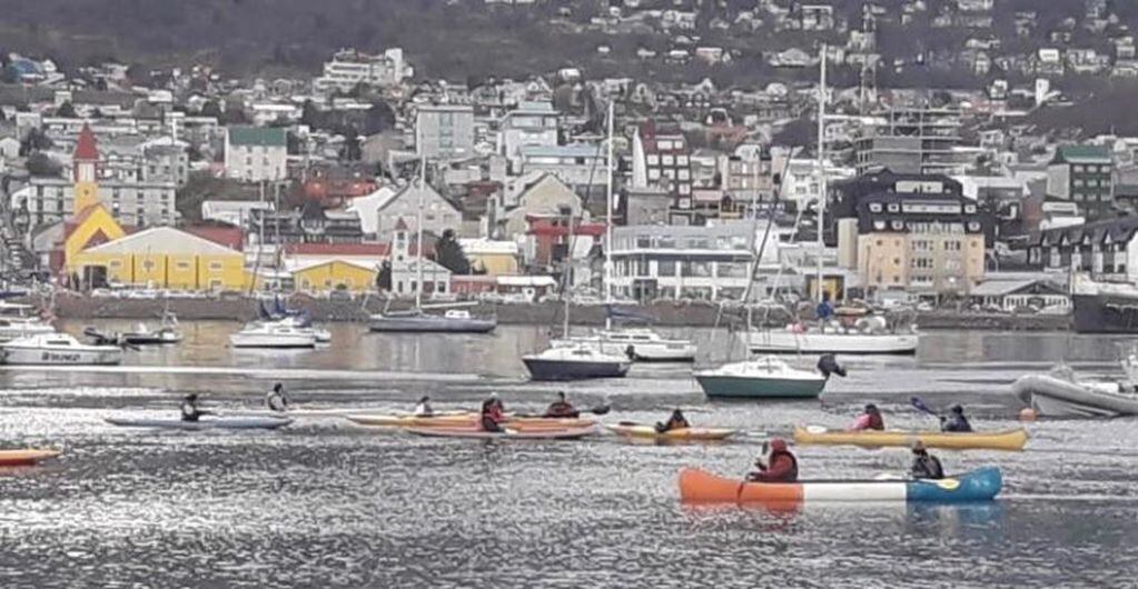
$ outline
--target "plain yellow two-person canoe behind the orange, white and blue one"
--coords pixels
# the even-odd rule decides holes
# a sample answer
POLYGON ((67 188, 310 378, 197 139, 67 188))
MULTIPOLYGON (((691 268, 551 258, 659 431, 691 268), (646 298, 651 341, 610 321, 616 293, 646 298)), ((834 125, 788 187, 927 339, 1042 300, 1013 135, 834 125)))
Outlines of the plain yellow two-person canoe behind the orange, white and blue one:
POLYGON ((801 445, 880 448, 884 446, 912 446, 916 440, 921 440, 927 448, 1017 451, 1028 443, 1028 431, 1017 428, 995 432, 909 432, 900 430, 851 432, 826 430, 813 425, 794 428, 794 442, 801 445))

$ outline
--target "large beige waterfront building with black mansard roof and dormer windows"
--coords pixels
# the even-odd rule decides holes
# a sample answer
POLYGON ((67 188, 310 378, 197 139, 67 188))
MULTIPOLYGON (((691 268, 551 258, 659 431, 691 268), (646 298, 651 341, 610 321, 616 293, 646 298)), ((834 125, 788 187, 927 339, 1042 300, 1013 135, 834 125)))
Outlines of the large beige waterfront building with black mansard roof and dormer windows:
POLYGON ((958 190, 943 190, 949 184, 940 191, 932 184, 864 196, 856 216, 839 221, 839 262, 858 269, 867 293, 966 296, 983 280, 991 215, 958 190))

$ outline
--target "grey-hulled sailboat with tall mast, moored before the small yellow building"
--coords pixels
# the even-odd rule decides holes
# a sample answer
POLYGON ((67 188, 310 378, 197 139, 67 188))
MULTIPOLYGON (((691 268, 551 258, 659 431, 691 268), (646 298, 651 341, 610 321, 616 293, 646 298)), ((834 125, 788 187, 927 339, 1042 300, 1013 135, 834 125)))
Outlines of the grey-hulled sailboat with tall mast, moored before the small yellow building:
MULTIPOLYGON (((423 306, 423 192, 427 186, 427 160, 419 172, 419 213, 417 215, 418 249, 415 250, 415 306, 410 310, 385 309, 370 317, 369 329, 387 333, 489 333, 497 326, 497 317, 476 317, 456 305, 423 306), (442 315, 428 309, 446 309, 442 315)), ((390 301, 388 301, 390 302, 390 301)))

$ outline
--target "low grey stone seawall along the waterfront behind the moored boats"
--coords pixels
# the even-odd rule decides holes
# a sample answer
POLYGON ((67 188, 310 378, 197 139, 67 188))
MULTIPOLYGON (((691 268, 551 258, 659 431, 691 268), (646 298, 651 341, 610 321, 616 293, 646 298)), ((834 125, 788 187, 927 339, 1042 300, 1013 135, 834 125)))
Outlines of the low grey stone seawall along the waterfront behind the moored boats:
MULTIPOLYGON (((36 302, 36 301, 30 301, 36 302)), ((307 297, 287 299, 290 307, 308 310, 318 322, 365 323, 368 317, 384 309, 384 300, 329 300, 307 297)), ((405 307, 401 305, 397 308, 405 307)), ((250 321, 256 317, 256 301, 245 298, 221 299, 107 299, 75 294, 56 298, 55 310, 59 318, 123 318, 158 320, 165 309, 181 321, 250 321)), ((558 325, 563 318, 560 302, 479 304, 470 308, 476 315, 495 315, 503 325, 558 325)), ((701 302, 657 302, 637 307, 637 312, 654 317, 654 325, 665 327, 740 327, 745 322, 739 308, 723 309, 701 302)), ((604 325, 604 305, 574 305, 570 315, 574 325, 604 325)), ((777 327, 790 322, 790 315, 756 321, 758 326, 777 327)), ((982 331, 1070 331, 1069 315, 1003 315, 981 313, 953 313, 945 310, 918 313, 916 323, 922 330, 982 330, 982 331)))

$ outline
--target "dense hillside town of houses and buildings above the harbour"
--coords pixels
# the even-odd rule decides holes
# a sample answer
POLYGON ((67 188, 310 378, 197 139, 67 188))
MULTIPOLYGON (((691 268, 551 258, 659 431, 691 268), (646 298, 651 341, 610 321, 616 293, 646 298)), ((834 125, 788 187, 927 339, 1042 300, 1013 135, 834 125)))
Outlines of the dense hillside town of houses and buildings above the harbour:
POLYGON ((572 25, 662 31, 668 48, 638 59, 711 68, 754 56, 698 28, 793 33, 764 52, 775 74, 756 86, 580 67, 454 81, 377 47, 277 78, 65 72, 11 52, 5 284, 587 302, 611 268, 609 298, 627 304, 794 302, 820 287, 833 301, 1063 315, 1073 274, 1138 279, 1138 135, 1040 121, 1075 101, 1072 75, 1138 76, 1133 34, 1105 0, 1059 23, 1014 13, 1022 39, 1050 27, 1034 47, 997 34, 999 3, 866 2, 849 18, 765 0, 709 19, 701 2, 626 0, 572 25), (880 27, 917 23, 966 39, 917 61, 879 50, 880 27), (986 82, 883 84, 925 60, 986 82), (823 61, 836 81, 819 125, 823 61))

